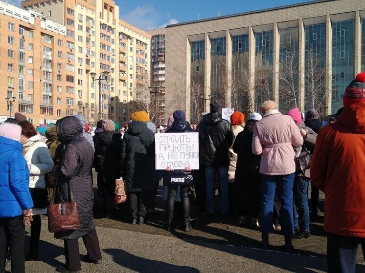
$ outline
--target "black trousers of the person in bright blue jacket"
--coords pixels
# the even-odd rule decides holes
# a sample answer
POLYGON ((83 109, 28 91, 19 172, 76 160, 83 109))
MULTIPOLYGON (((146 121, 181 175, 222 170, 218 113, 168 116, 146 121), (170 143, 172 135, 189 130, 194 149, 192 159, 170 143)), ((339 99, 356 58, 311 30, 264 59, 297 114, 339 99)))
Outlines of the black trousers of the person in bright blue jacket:
POLYGON ((6 231, 9 232, 11 272, 25 273, 24 240, 25 231, 23 227, 23 217, 0 218, 0 272, 5 272, 5 252, 6 252, 6 231))

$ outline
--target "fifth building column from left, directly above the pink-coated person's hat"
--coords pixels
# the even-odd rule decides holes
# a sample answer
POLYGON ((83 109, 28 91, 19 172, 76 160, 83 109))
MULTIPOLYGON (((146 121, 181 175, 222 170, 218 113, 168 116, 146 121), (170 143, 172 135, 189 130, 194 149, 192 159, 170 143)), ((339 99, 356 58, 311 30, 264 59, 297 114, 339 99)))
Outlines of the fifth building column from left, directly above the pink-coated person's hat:
POLYGON ((274 23, 274 49, 273 49, 273 100, 279 105, 279 73, 280 73, 280 35, 277 24, 274 23))

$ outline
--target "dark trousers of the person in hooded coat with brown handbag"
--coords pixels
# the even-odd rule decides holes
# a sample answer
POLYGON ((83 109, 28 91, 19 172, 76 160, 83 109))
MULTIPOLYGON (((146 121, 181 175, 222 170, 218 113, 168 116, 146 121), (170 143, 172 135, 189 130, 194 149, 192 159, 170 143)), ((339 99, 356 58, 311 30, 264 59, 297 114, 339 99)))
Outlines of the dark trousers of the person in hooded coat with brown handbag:
MULTIPOLYGON (((96 230, 93 230, 82 237, 88 256, 91 261, 101 260, 101 252, 99 246, 99 238, 97 237, 96 230)), ((66 266, 69 271, 80 271, 80 251, 79 251, 79 239, 64 240, 65 243, 65 259, 66 266)))

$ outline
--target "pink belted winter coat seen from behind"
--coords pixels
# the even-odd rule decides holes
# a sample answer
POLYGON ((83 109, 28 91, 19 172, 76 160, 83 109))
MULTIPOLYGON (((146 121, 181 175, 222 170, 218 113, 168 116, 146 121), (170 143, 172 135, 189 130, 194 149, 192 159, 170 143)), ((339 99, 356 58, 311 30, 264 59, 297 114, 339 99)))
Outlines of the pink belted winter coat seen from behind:
POLYGON ((303 137, 290 116, 269 110, 253 130, 252 152, 261 155, 260 173, 287 175, 296 170, 293 147, 303 145, 303 137))

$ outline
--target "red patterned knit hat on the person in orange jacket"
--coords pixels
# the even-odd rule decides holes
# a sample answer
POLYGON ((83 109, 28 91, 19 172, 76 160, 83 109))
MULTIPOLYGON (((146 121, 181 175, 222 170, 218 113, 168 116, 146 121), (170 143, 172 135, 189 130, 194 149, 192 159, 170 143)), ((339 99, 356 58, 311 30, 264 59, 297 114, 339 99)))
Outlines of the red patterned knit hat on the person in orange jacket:
POLYGON ((343 94, 343 106, 345 107, 350 107, 360 101, 365 101, 365 72, 359 73, 355 80, 346 87, 343 94))

